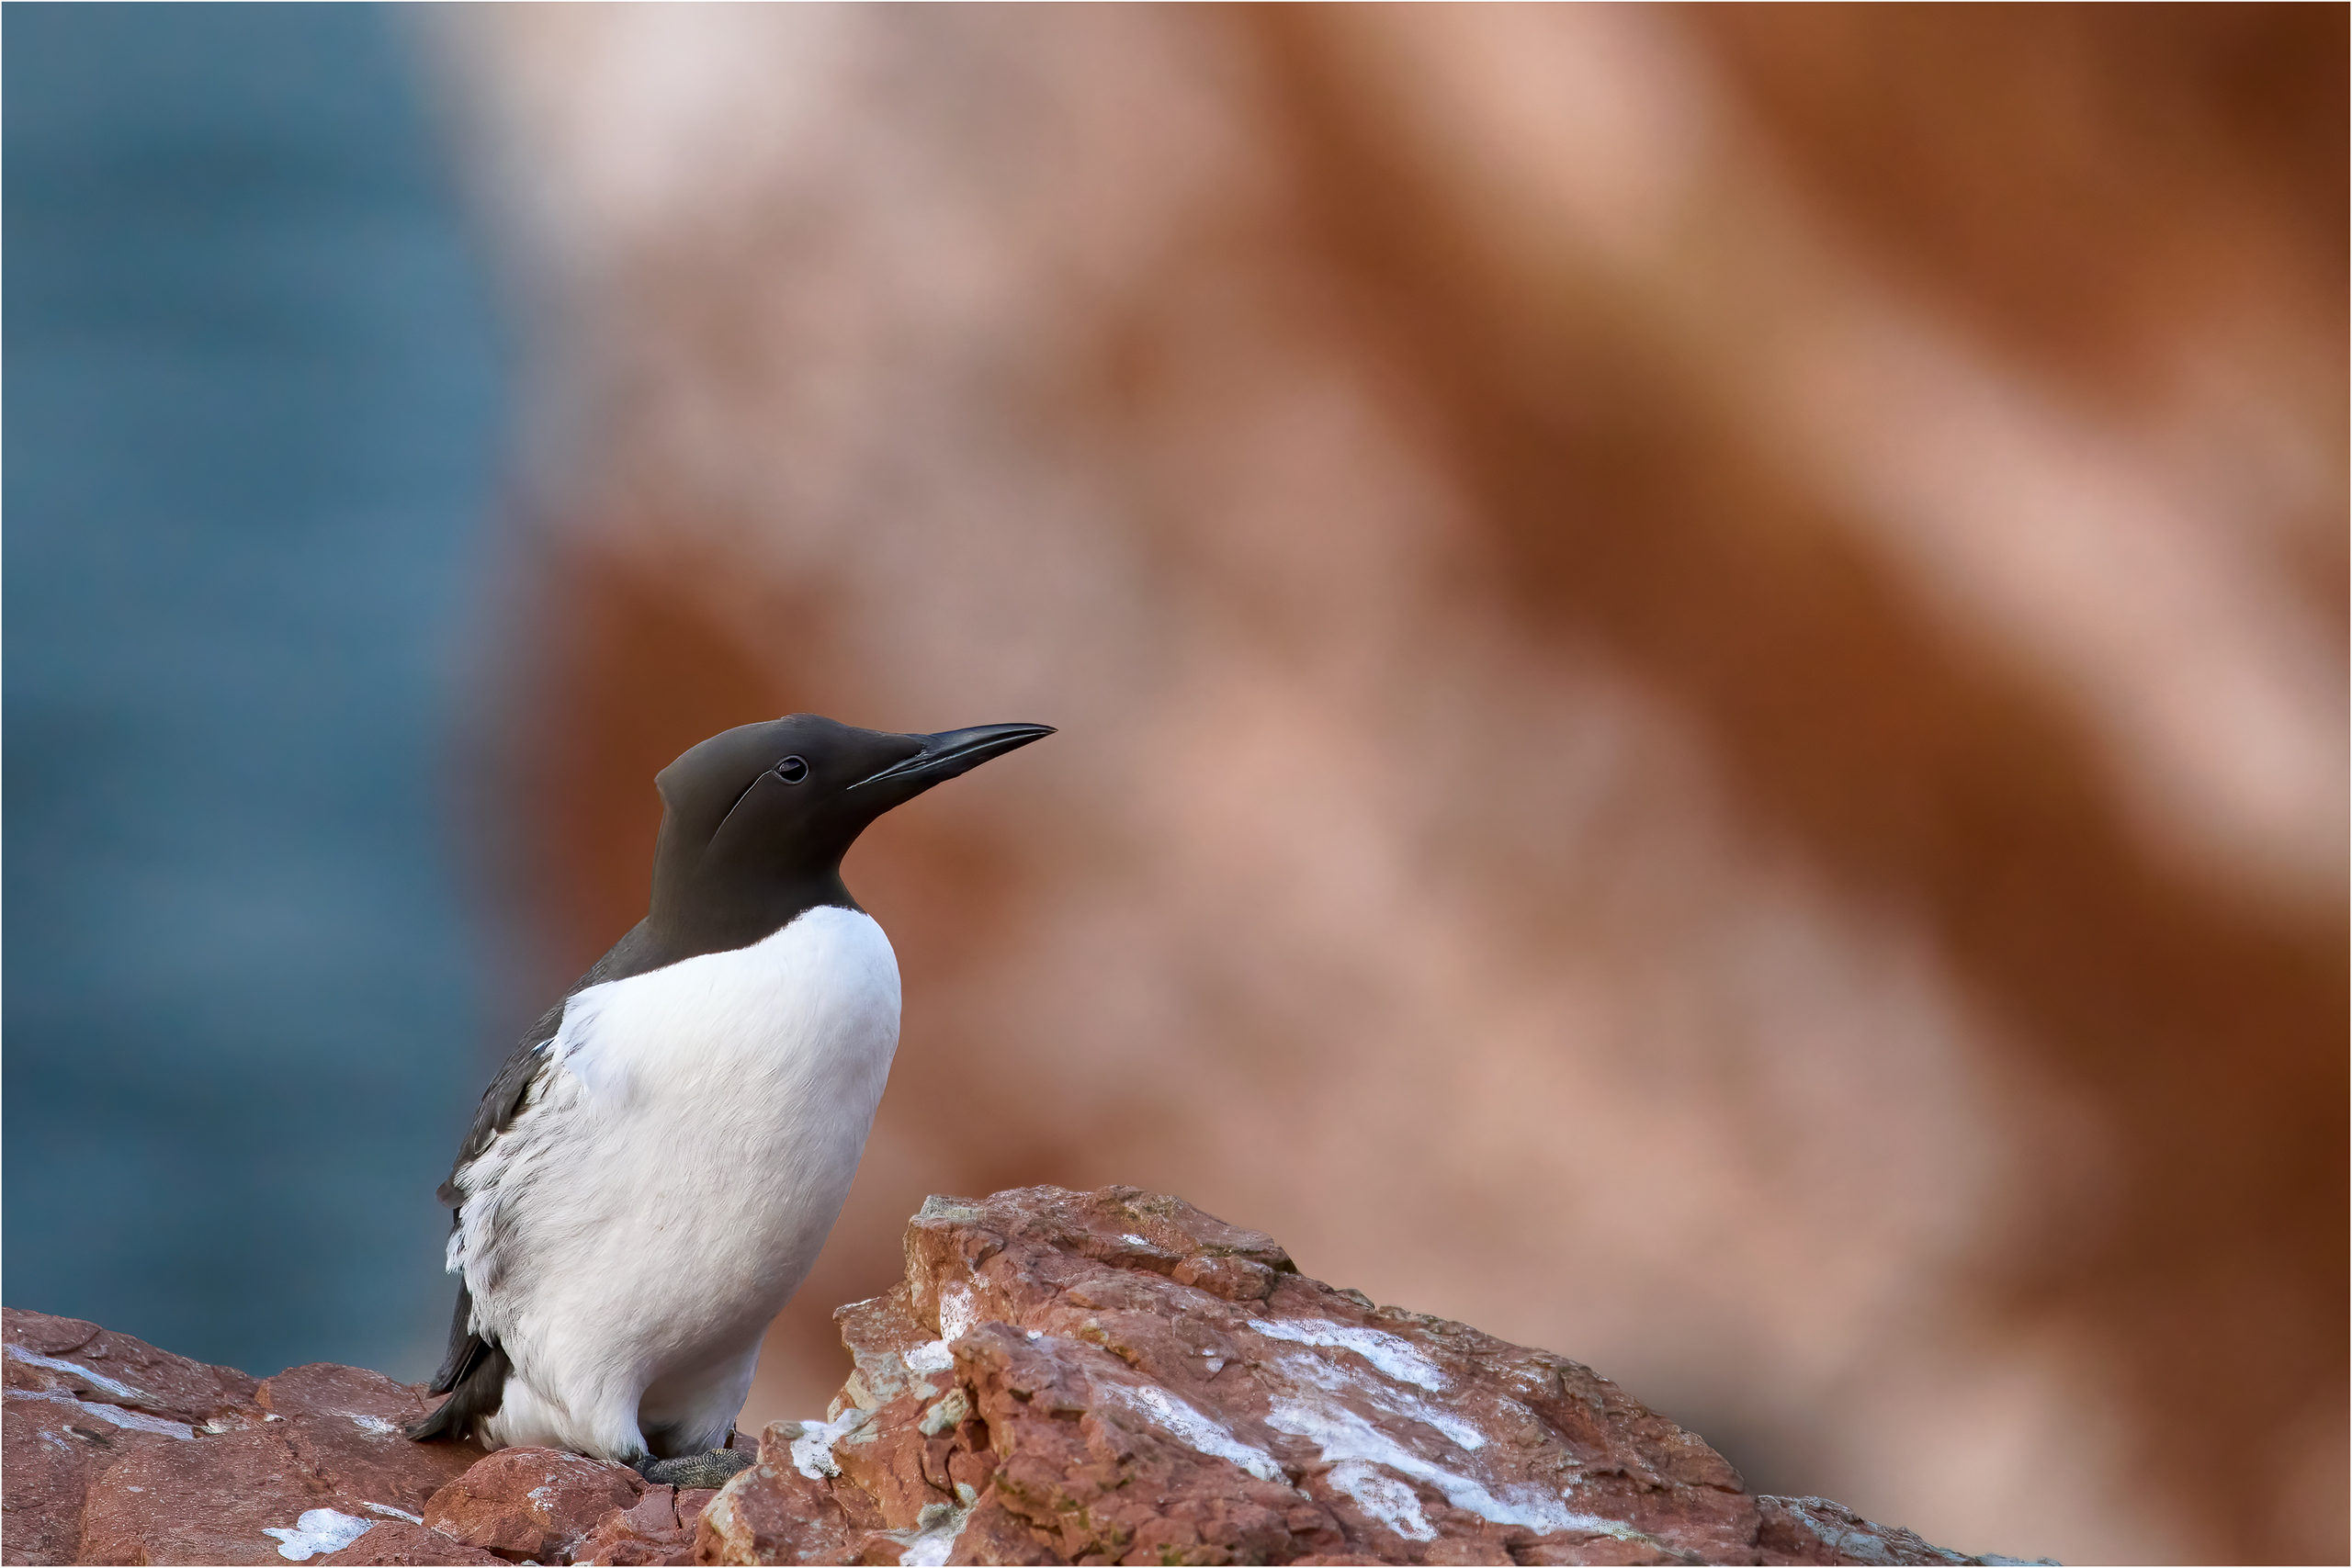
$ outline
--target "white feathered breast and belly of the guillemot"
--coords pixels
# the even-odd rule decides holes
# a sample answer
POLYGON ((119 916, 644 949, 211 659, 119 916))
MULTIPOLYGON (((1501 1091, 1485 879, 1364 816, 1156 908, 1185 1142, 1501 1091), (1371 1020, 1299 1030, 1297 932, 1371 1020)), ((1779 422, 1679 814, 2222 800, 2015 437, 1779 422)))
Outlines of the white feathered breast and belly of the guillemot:
POLYGON ((513 1361, 489 1436, 612 1458, 722 1439, 842 1211, 896 1046, 898 961, 856 910, 574 994, 452 1239, 513 1361))

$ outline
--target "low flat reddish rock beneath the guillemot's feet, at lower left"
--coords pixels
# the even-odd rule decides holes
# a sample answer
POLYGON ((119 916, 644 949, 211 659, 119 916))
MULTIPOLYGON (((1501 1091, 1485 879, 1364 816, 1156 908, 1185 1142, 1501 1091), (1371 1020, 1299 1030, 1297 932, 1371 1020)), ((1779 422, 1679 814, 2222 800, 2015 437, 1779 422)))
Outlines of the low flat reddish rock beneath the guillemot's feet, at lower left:
POLYGON ((715 1495, 550 1448, 412 1443, 421 1389, 355 1366, 256 1382, 14 1309, 5 1356, 9 1563, 691 1563, 715 1495))

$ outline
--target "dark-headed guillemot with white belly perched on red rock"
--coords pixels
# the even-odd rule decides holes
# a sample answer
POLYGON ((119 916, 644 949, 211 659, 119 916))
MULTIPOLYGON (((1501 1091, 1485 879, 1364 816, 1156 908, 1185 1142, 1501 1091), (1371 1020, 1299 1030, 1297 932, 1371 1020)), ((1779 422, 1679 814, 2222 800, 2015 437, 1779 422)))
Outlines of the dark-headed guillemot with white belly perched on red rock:
POLYGON ((891 806, 1044 724, 797 712, 654 780, 647 917, 492 1079, 440 1201, 449 1394, 409 1436, 572 1448, 717 1486, 760 1335, 833 1229, 898 1048, 898 959, 842 884, 891 806))

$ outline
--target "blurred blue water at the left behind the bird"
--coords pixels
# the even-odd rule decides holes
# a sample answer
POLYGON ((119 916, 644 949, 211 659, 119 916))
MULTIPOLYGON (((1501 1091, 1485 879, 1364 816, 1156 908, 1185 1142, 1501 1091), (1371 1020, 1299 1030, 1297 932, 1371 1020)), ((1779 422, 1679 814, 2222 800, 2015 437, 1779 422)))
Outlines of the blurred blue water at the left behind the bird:
POLYGON ((430 1368, 501 364, 393 19, 12 5, 5 1288, 430 1368))

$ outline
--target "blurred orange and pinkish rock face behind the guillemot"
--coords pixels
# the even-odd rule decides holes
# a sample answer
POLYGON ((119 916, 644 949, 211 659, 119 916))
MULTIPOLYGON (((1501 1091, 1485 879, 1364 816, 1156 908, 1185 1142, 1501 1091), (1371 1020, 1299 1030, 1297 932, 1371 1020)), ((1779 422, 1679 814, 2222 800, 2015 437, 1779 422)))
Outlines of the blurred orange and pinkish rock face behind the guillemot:
POLYGON ((449 24, 517 1011, 694 741, 1061 726, 849 858, 906 1032, 748 1427, 922 1194, 1136 1182, 1757 1490, 2343 1554, 2343 16, 1891 16, 449 24))

